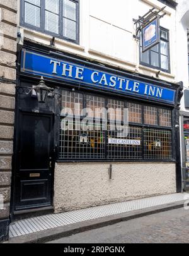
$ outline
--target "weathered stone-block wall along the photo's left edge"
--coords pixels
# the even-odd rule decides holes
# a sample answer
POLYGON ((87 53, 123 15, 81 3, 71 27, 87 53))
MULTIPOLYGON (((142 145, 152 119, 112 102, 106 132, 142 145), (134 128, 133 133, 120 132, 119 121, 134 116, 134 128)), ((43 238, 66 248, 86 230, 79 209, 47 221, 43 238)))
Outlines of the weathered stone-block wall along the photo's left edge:
POLYGON ((4 234, 5 237, 8 237, 13 154, 16 13, 16 0, 0 0, 0 194, 4 203, 0 209, 0 236, 4 234))

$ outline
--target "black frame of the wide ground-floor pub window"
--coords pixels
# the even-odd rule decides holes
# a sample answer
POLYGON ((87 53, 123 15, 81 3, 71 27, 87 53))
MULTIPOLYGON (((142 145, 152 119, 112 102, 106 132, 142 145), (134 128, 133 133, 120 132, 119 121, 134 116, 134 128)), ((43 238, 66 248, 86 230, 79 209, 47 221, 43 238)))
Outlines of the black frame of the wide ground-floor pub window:
MULTIPOLYGON (((60 88, 60 91, 62 90, 67 90, 67 91, 70 91, 72 92, 72 90, 70 90, 69 88, 60 88)), ((85 161, 88 161, 88 162, 101 162, 101 161, 105 161, 105 162, 110 162, 110 161, 113 161, 113 162, 132 162, 132 161, 137 161, 137 162, 175 162, 175 154, 174 154, 174 138, 173 138, 173 107, 166 107, 166 106, 160 106, 160 105, 156 105, 156 104, 151 104, 151 103, 147 103, 147 102, 139 102, 139 101, 132 101, 131 99, 126 99, 126 98, 120 98, 120 97, 116 97, 116 96, 113 96, 113 95, 105 95, 105 94, 98 94, 98 93, 95 93, 95 92, 89 92, 89 91, 86 91, 86 90, 74 90, 74 92, 78 92, 80 94, 83 95, 83 107, 86 107, 86 96, 87 95, 93 95, 93 96, 96 96, 96 97, 102 97, 105 99, 105 105, 106 107, 108 106, 108 99, 113 99, 115 101, 123 101, 124 102, 124 107, 127 107, 129 103, 131 104, 139 104, 142 106, 142 121, 141 123, 133 123, 133 122, 129 122, 129 126, 132 126, 132 127, 135 127, 135 128, 140 128, 142 133, 141 133, 141 147, 142 147, 142 158, 141 159, 134 159, 132 157, 130 157, 130 159, 122 159, 122 158, 108 158, 108 130, 105 130, 105 158, 86 158, 86 159, 83 159, 83 158, 72 158, 72 157, 69 157, 69 158, 62 158, 60 157, 60 147, 58 149, 58 154, 57 154, 57 162, 85 162, 85 161), (157 107, 157 125, 147 125, 145 124, 145 121, 144 121, 144 107, 145 106, 150 106, 150 107, 157 107), (171 111, 171 126, 160 126, 160 118, 159 118, 159 109, 166 109, 166 110, 169 110, 171 111), (171 157, 170 159, 146 159, 144 157, 144 148, 145 148, 145 145, 144 145, 144 140, 145 140, 145 137, 144 137, 144 129, 147 129, 147 128, 152 128, 154 130, 163 130, 163 131, 171 131, 171 157)), ((64 118, 64 116, 60 117, 60 123, 61 123, 61 119, 64 118)), ((81 119, 84 118, 84 117, 81 117, 81 119)), ((103 121, 101 119, 101 121, 103 121)), ((109 123, 109 119, 108 119, 108 123, 109 123)), ((123 124, 123 122, 121 122, 123 124)), ((60 135, 59 135, 59 143, 61 143, 61 140, 60 140, 60 135)))

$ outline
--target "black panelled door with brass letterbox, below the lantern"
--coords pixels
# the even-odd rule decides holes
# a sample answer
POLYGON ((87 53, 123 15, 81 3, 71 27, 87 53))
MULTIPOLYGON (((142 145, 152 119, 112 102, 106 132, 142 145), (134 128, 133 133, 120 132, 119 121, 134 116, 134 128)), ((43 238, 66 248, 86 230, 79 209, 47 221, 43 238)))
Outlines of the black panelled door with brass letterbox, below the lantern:
POLYGON ((20 111, 14 210, 52 205, 54 115, 20 111))

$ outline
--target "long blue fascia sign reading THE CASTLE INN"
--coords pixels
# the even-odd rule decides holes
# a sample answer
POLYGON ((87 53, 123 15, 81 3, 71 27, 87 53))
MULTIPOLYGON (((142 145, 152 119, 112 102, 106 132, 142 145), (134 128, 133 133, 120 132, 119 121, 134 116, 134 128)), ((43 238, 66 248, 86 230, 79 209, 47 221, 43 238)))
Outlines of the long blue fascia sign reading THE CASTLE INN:
POLYGON ((144 99, 174 104, 176 90, 171 87, 134 80, 124 75, 110 73, 103 69, 91 68, 90 64, 77 64, 62 59, 50 57, 35 51, 23 49, 21 53, 21 72, 43 76, 62 82, 80 84, 87 88, 100 89, 115 94, 140 96, 144 99))

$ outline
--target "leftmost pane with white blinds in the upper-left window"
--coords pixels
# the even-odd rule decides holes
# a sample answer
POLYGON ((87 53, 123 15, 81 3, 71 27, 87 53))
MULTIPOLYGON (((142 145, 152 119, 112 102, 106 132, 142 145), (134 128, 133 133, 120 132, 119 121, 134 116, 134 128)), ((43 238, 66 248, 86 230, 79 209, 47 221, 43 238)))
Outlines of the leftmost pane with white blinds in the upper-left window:
POLYGON ((40 7, 25 3, 25 23, 40 27, 40 7))

